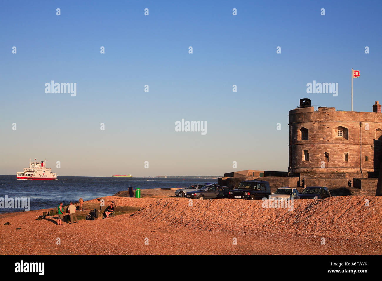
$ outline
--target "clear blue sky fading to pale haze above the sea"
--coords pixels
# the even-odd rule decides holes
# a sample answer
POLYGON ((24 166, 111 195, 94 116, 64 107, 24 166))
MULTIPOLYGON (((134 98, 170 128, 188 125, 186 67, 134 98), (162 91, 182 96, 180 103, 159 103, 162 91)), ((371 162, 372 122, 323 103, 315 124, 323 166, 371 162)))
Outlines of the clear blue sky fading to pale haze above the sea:
POLYGON ((381 8, 380 1, 0 2, 0 174, 22 171, 29 158, 46 158, 58 175, 222 175, 233 161, 238 170, 287 171, 288 111, 300 98, 351 110, 354 68, 361 72, 354 111, 382 100, 381 8), (77 83, 77 95, 45 93, 51 80, 77 83), (313 80, 338 83, 338 96, 307 94, 313 80), (206 121, 207 134, 175 132, 182 118, 206 121))

